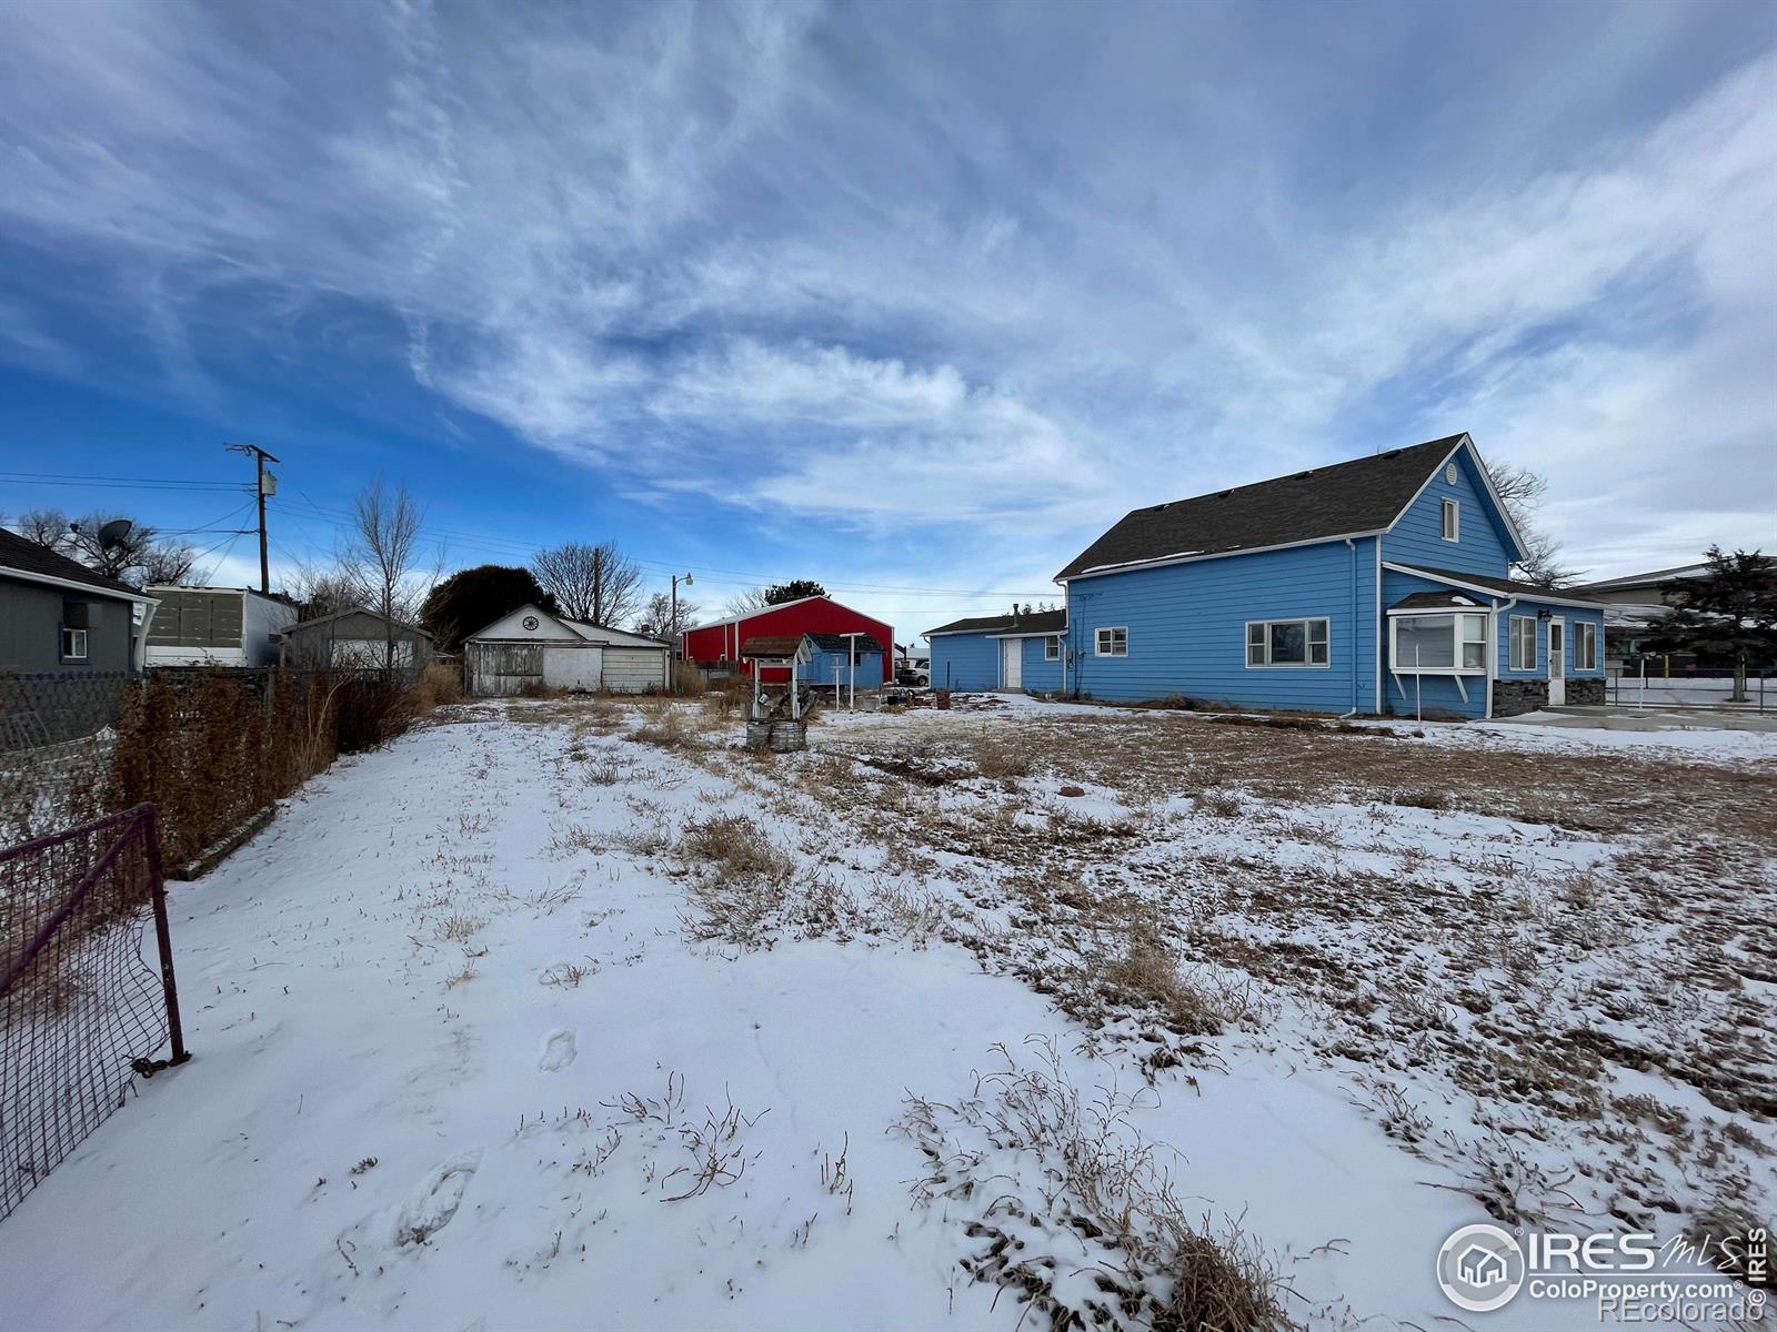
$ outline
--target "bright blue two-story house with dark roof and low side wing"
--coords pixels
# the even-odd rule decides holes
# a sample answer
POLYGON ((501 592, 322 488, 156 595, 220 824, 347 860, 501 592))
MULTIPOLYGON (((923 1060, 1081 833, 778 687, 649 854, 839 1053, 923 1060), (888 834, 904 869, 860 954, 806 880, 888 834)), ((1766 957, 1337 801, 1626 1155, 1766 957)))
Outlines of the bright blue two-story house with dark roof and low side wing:
POLYGON ((1509 577, 1468 435, 1132 510, 1063 611, 928 632, 931 684, 1338 714, 1603 703, 1603 607, 1509 577))

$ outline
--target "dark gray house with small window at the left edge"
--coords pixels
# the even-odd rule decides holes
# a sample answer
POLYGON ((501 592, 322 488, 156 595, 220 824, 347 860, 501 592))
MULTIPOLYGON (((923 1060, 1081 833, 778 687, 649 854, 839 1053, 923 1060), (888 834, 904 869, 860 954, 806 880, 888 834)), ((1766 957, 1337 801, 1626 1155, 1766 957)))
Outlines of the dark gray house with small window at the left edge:
POLYGON ((0 671, 140 671, 155 599, 0 529, 0 671))

